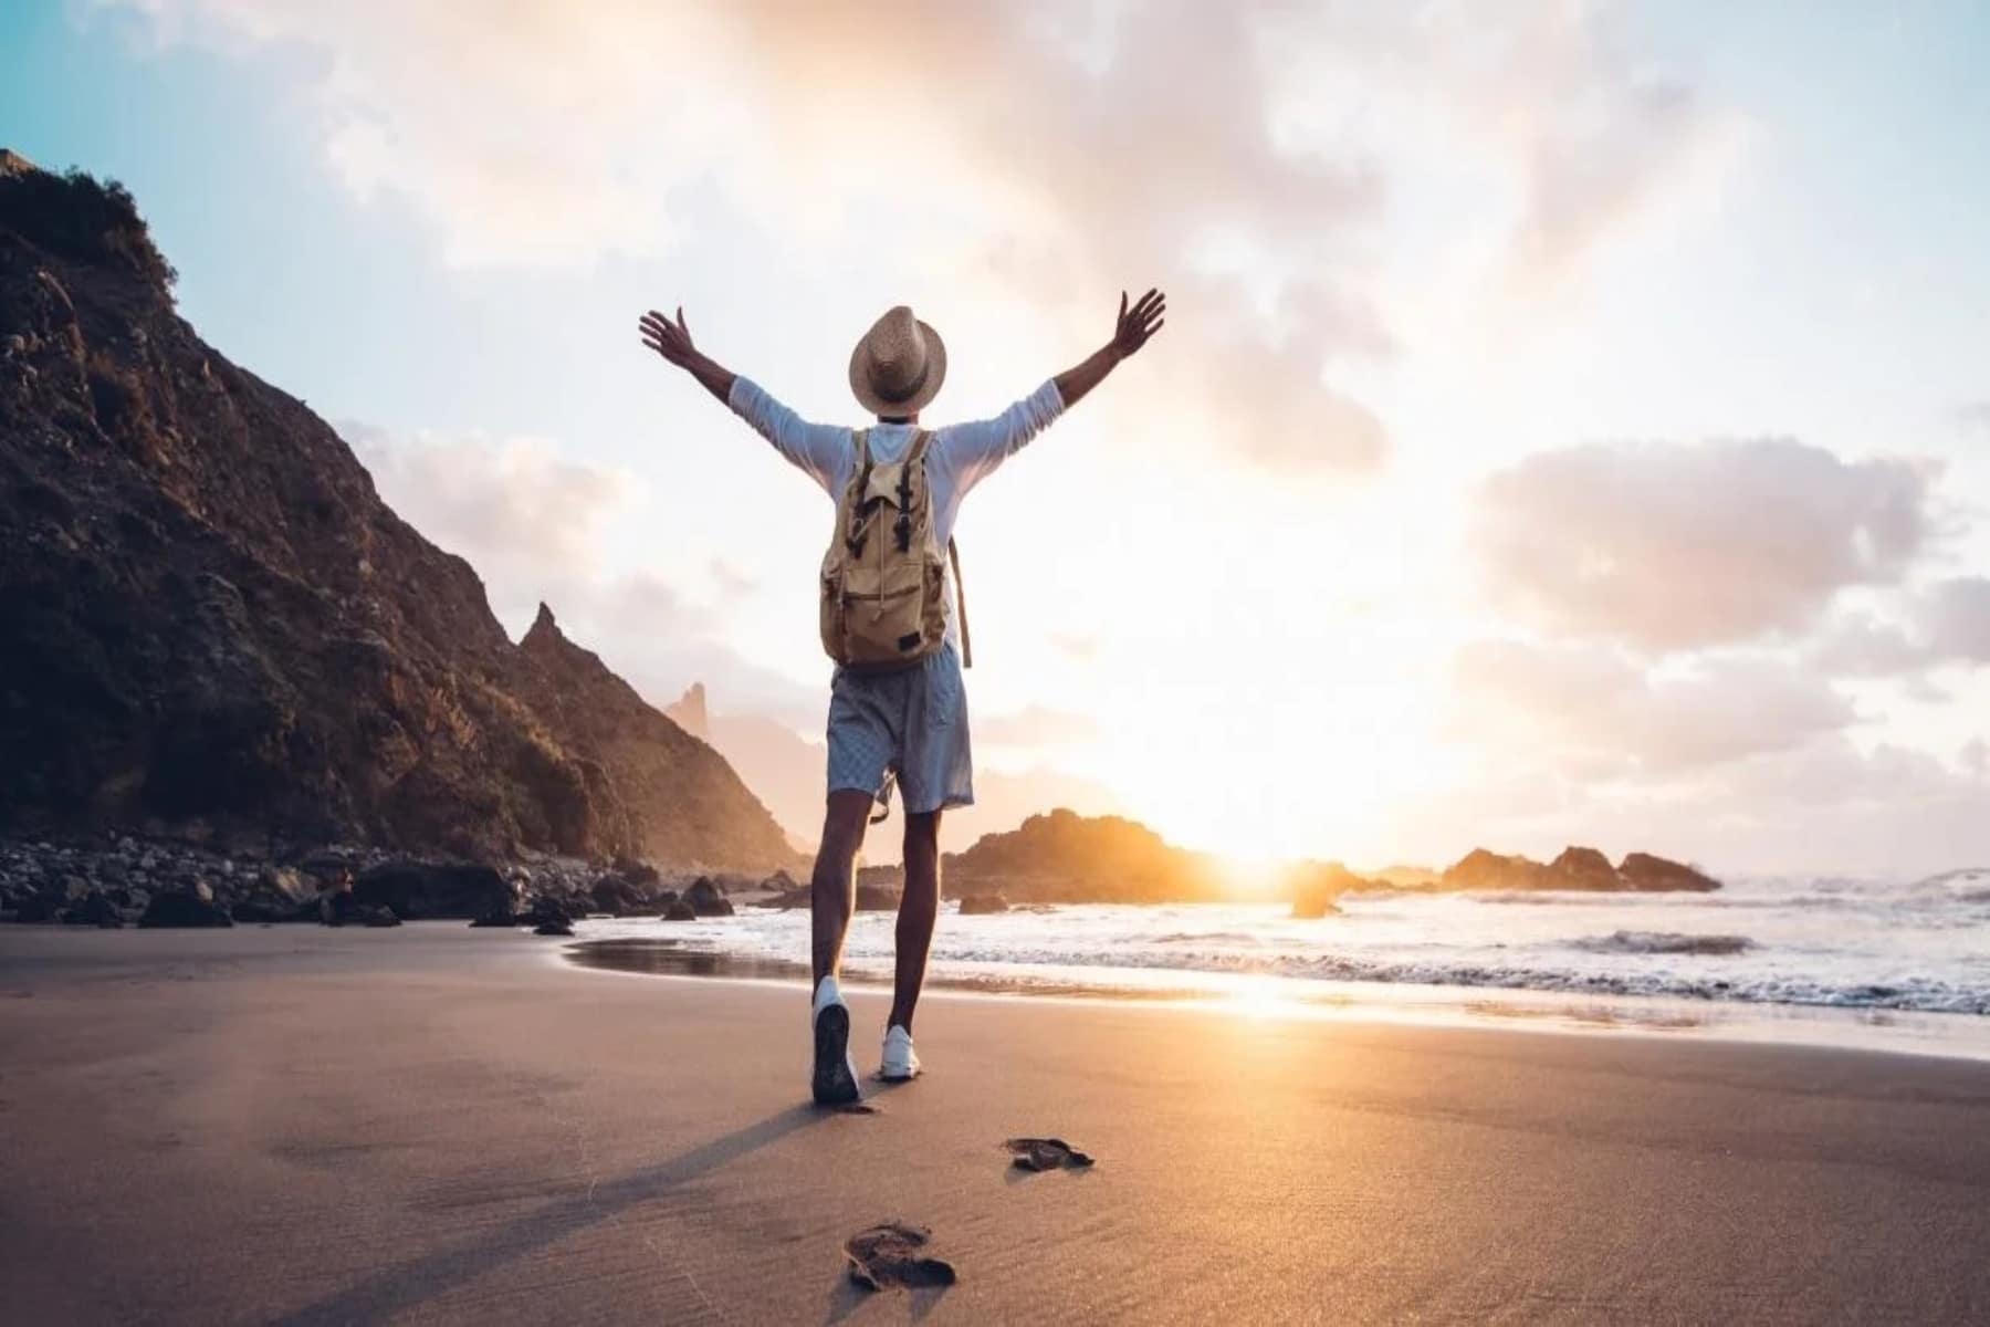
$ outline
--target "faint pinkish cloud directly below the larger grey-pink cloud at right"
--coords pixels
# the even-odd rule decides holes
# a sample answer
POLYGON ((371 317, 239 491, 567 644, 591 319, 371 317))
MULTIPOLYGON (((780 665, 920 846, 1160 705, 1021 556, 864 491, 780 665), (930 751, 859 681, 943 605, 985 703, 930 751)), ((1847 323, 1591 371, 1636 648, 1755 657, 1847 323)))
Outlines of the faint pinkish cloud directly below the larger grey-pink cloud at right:
POLYGON ((1570 778, 1676 778, 1791 750, 1855 720, 1813 672, 1769 655, 1652 672, 1616 649, 1479 641, 1453 659, 1457 734, 1570 778))

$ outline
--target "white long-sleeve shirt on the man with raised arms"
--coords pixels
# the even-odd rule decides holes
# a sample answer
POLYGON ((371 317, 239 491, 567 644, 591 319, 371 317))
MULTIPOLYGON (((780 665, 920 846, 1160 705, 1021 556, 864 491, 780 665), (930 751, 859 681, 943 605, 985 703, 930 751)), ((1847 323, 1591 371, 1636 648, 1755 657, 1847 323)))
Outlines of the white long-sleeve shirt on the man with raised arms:
MULTIPOLYGON (((842 495, 858 466, 854 430, 842 424, 810 424, 748 378, 732 380, 726 404, 772 442, 776 452, 820 483, 832 501, 842 495)), ((1063 412, 1065 398, 1059 396, 1057 382, 1051 380, 993 420, 931 430, 931 440, 925 444, 925 481, 933 503, 933 539, 941 549, 953 537, 953 521, 961 513, 967 489, 995 474, 997 466, 1021 452, 1063 412)), ((872 424, 872 460, 886 464, 901 460, 917 430, 915 424, 872 424)), ((953 621, 951 589, 945 603, 947 639, 959 649, 959 623, 953 621)))

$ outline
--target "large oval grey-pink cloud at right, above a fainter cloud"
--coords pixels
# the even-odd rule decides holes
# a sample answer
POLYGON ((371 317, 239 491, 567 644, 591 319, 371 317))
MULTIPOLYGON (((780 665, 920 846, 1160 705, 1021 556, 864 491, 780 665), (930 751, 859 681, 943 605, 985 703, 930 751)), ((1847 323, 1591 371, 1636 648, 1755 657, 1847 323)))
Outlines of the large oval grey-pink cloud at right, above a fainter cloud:
POLYGON ((1932 539, 1934 470, 1791 440, 1592 444, 1489 477, 1471 547, 1498 607, 1652 651, 1803 633, 1932 539))

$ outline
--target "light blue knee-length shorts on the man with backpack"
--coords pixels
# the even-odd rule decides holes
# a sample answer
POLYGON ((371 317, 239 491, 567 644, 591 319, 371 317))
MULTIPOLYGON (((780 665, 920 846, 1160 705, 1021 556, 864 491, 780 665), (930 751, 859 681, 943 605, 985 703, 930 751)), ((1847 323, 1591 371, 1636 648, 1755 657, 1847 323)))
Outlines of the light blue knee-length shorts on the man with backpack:
POLYGON ((838 668, 830 680, 830 792, 890 804, 894 776, 907 816, 975 804, 967 686, 951 641, 903 672, 838 668))

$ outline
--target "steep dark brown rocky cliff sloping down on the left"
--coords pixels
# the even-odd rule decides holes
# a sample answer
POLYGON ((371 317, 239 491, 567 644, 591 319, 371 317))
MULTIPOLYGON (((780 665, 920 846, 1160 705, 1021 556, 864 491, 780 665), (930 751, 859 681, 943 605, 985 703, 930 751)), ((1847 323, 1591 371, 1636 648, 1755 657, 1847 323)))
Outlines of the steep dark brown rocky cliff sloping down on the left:
POLYGON ((0 834, 764 869, 772 816, 175 312, 115 185, 0 155, 0 834))

